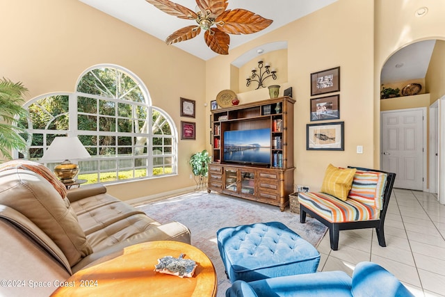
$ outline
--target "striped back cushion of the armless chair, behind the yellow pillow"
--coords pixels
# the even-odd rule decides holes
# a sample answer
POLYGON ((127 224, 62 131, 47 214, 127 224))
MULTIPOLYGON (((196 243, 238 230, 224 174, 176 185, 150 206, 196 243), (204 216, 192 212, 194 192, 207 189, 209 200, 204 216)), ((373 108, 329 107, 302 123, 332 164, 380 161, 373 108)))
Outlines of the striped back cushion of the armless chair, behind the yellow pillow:
POLYGON ((348 198, 368 204, 376 209, 382 209, 386 182, 387 174, 385 173, 357 170, 348 198))

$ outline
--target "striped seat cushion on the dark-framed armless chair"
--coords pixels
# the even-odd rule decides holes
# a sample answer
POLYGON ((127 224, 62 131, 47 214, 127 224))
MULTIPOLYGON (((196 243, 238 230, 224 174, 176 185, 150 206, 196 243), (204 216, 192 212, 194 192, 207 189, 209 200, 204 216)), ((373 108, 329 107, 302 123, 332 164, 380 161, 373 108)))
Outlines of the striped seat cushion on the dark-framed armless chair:
POLYGON ((298 202, 331 223, 380 218, 379 209, 353 199, 342 201, 325 193, 298 193, 298 202))

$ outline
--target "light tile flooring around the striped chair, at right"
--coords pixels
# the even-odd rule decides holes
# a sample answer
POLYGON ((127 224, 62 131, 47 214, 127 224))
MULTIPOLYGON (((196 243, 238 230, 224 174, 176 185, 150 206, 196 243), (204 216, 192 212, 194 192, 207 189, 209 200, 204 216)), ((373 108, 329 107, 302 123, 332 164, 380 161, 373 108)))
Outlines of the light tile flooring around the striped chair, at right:
POLYGON ((375 230, 340 231, 339 250, 330 249, 329 233, 318 246, 318 271, 352 275, 358 262, 380 264, 415 296, 445 296, 445 205, 437 195, 394 188, 385 219, 387 246, 375 230))

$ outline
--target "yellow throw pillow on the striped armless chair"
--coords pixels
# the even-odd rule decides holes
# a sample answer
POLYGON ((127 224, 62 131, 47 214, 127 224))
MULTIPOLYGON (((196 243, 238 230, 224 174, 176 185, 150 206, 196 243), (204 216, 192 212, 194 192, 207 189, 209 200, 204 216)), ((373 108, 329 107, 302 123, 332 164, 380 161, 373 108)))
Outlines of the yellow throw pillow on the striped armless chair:
POLYGON ((346 201, 353 184, 355 171, 357 171, 355 168, 337 168, 329 164, 326 168, 321 191, 346 201))

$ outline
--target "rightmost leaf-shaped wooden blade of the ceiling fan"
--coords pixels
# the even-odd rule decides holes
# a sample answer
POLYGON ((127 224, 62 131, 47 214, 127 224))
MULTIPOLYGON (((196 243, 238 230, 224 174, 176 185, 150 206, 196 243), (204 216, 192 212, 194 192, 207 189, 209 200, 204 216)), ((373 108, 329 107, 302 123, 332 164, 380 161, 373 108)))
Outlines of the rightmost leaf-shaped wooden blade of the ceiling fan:
POLYGON ((261 15, 256 15, 249 10, 234 9, 226 10, 216 21, 223 22, 218 29, 229 34, 251 34, 266 29, 272 24, 272 19, 266 19, 261 15))

